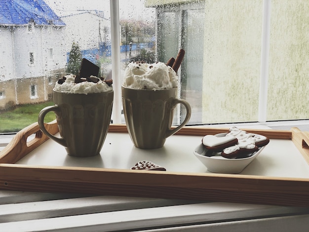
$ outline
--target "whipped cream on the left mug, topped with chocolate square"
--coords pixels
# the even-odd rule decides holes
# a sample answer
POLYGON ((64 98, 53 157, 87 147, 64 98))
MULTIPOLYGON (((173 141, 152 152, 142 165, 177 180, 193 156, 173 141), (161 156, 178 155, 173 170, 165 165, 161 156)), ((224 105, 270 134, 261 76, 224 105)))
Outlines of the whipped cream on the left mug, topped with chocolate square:
POLYGON ((65 77, 66 77, 65 82, 63 82, 62 84, 56 82, 54 91, 63 93, 88 94, 88 93, 104 93, 113 90, 112 86, 109 86, 101 79, 97 83, 88 81, 75 83, 75 77, 76 77, 75 75, 70 74, 65 77))

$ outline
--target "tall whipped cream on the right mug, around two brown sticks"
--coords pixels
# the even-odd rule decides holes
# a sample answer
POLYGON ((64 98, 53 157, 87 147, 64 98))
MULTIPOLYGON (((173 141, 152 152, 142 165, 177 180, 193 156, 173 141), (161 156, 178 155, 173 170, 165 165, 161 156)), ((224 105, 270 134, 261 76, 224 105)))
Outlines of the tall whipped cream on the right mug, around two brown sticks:
POLYGON ((131 62, 125 69, 123 86, 133 89, 171 89, 178 85, 175 71, 162 62, 131 62))

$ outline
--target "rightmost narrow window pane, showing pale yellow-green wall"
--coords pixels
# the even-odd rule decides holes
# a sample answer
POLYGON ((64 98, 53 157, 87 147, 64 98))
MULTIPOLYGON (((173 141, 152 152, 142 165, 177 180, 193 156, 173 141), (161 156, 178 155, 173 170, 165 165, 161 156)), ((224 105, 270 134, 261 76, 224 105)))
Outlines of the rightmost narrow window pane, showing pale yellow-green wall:
POLYGON ((268 120, 309 117, 309 1, 271 0, 268 120))

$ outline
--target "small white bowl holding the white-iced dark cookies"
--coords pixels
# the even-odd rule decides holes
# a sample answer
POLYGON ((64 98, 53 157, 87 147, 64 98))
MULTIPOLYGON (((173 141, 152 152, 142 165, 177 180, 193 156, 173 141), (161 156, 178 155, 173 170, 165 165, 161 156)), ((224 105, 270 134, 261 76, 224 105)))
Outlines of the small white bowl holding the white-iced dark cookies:
MULTIPOLYGON (((217 134, 216 136, 225 136, 226 133, 217 134)), ((207 170, 214 173, 238 174, 251 163, 265 148, 261 147, 254 155, 247 158, 229 159, 221 155, 206 156, 208 151, 201 143, 198 145, 193 154, 207 167, 207 170)))

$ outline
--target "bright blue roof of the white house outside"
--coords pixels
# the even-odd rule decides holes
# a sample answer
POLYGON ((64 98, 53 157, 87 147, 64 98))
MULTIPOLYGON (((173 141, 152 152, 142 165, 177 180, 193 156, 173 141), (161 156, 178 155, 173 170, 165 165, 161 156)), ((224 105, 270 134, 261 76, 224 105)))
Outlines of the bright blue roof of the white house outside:
POLYGON ((43 0, 0 0, 0 25, 65 26, 65 23, 43 0))

